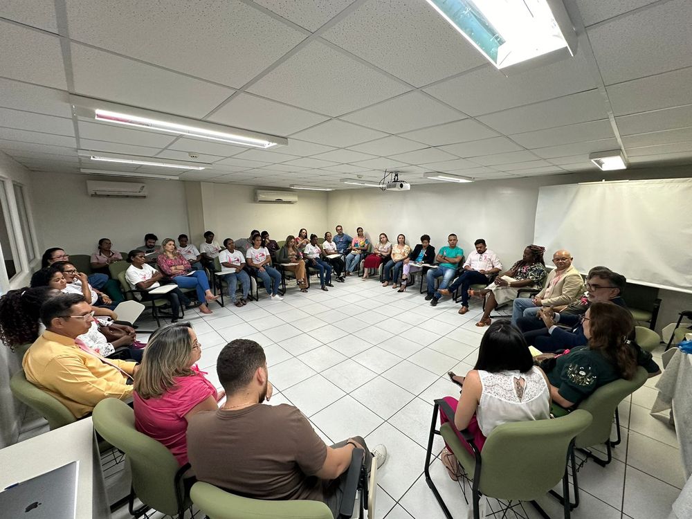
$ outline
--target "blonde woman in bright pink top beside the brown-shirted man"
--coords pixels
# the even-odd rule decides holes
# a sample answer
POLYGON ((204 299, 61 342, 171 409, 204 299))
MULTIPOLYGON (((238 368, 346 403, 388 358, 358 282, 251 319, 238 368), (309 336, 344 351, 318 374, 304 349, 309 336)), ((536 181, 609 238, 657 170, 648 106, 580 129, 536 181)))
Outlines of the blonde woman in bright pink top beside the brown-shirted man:
POLYGON ((188 322, 154 331, 132 394, 136 429, 165 445, 181 466, 188 463, 188 421, 198 412, 218 409, 224 398, 197 368, 201 352, 188 322))

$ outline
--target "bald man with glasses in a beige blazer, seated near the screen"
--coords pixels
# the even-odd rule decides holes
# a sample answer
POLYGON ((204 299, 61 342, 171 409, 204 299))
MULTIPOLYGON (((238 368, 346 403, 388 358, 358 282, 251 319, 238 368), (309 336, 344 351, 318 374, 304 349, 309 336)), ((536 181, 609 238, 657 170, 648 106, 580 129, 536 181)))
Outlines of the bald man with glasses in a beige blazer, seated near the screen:
POLYGON ((584 291, 581 274, 572 265, 570 251, 557 251, 553 255, 555 268, 548 273, 545 286, 534 298, 516 298, 512 308, 512 324, 516 326, 518 318, 535 317, 543 307, 556 307, 570 304, 584 291))

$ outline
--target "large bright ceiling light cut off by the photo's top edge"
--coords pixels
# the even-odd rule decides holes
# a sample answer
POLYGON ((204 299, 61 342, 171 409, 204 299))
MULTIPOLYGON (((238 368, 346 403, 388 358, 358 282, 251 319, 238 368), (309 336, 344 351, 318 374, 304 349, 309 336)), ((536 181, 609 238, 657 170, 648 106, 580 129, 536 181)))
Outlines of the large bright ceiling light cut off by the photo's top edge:
POLYGON ((500 70, 576 52, 576 34, 561 0, 426 1, 500 70))

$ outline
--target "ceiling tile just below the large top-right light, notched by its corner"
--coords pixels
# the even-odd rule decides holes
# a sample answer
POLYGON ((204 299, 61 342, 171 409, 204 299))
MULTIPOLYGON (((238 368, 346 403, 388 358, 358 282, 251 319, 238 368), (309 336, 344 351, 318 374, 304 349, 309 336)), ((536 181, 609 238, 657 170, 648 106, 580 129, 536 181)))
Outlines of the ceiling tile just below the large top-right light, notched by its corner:
POLYGON ((506 77, 489 65, 425 89, 472 116, 594 89, 583 53, 506 77))

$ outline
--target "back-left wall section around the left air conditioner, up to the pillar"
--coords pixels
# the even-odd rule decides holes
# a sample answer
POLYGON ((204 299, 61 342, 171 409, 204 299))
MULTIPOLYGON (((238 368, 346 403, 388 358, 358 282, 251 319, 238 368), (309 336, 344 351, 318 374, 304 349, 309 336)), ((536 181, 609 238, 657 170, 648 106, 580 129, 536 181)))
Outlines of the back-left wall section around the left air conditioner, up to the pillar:
MULTIPOLYGON (((147 198, 90 197, 87 180, 131 182, 115 177, 32 173, 34 215, 41 252, 62 247, 68 254, 91 254, 100 238, 117 251, 130 251, 154 233, 159 242, 188 233, 188 211, 182 181, 143 179, 147 198)), ((139 182, 139 180, 138 180, 139 182)))

